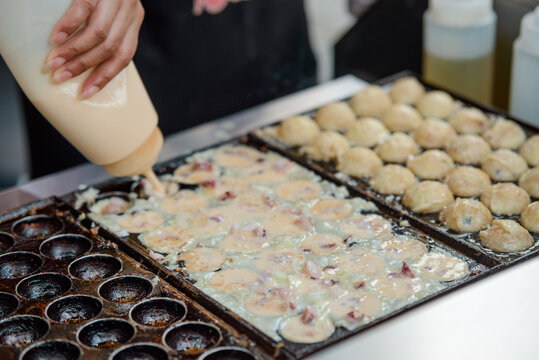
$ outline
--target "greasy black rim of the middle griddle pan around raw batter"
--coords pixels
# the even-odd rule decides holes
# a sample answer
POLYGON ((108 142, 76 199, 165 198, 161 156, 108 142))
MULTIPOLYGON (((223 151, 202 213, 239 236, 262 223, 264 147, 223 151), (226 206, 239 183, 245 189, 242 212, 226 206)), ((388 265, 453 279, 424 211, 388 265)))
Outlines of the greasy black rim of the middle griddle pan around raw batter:
MULTIPOLYGON (((263 152, 267 151, 270 147, 269 144, 261 141, 260 139, 256 139, 253 136, 248 136, 248 137, 243 137, 240 139, 233 139, 233 140, 226 141, 223 143, 215 144, 207 148, 197 150, 196 152, 213 149, 218 146, 225 145, 225 144, 243 144, 243 145, 254 147, 263 152)), ((299 159, 294 157, 292 154, 279 151, 279 149, 275 149, 275 150, 277 150, 277 152, 280 152, 284 156, 288 157, 289 159, 298 162, 300 165, 304 165, 302 161, 298 161, 299 159)), ((193 153, 196 153, 196 152, 193 152, 193 153)), ((162 163, 160 165, 157 165, 154 168, 154 171, 158 175, 171 173, 178 166, 184 164, 186 162, 186 159, 192 156, 193 153, 187 154, 177 159, 173 159, 165 163, 162 163)), ((329 176, 327 172, 320 173, 319 171, 316 171, 316 169, 313 169, 312 167, 308 167, 308 168, 309 170, 315 170, 315 172, 319 173, 319 175, 322 175, 324 179, 339 184, 337 181, 335 181, 333 177, 329 176)), ((100 190, 101 192, 109 192, 109 191, 129 192, 129 191, 132 191, 133 189, 137 189, 137 182, 132 179, 114 179, 114 180, 111 180, 102 184, 95 185, 94 187, 100 190)), ((362 197, 367 200, 375 200, 374 202, 379 208, 379 213, 387 217, 392 222, 392 224, 396 226, 397 233, 417 236, 421 241, 425 242, 428 245, 429 249, 431 248, 442 249, 443 251, 446 251, 454 256, 457 256, 461 259, 466 260, 470 266, 470 274, 462 279, 448 282, 446 289, 443 289, 437 293, 434 293, 416 302, 408 304, 405 307, 400 308, 392 313, 386 314, 358 329, 350 331, 350 330, 339 327, 336 329, 333 335, 325 341, 314 343, 314 344, 297 344, 297 343, 292 343, 286 340, 277 342, 271 339, 270 337, 268 337, 267 335, 265 335, 263 332, 259 331, 256 327, 251 325, 242 317, 231 312, 226 307, 224 307, 217 301, 213 300, 210 296, 206 295, 204 292, 196 288, 192 283, 193 280, 189 278, 189 275, 187 272, 171 271, 168 268, 166 268, 166 266, 152 260, 149 255, 149 250, 145 248, 143 245, 141 245, 139 240, 137 239, 137 236, 138 236, 137 234, 130 234, 128 238, 123 238, 123 239, 113 234, 108 234, 107 236, 110 236, 111 238, 115 238, 116 242, 124 243, 130 248, 132 248, 138 254, 138 255, 135 255, 136 256, 135 258, 138 259, 138 256, 140 256, 141 261, 146 261, 148 264, 150 264, 150 268, 153 269, 152 271, 154 271, 156 274, 159 274, 160 277, 169 281, 171 284, 173 284, 178 289, 180 289, 183 293, 185 293, 186 295, 188 295, 195 301, 199 302, 200 304, 208 308, 213 313, 218 314, 219 317, 225 320, 225 322, 227 322, 228 324, 233 325, 234 328, 239 329, 241 332, 246 333, 251 339, 256 341, 259 344, 259 346, 261 346, 264 349, 270 350, 271 353, 273 353, 275 357, 298 358, 298 359, 303 358, 307 355, 310 355, 322 348, 330 346, 331 344, 344 340, 368 328, 371 328, 375 326, 376 324, 379 324, 383 321, 391 319, 402 312, 405 312, 409 309, 417 307, 418 305, 421 305, 423 303, 436 299, 437 297, 447 294, 453 291, 454 289, 457 289, 477 279, 480 279, 490 273, 489 268, 494 267, 498 264, 497 261, 493 261, 491 258, 484 256, 481 253, 474 253, 473 251, 470 251, 468 247, 462 246, 460 243, 450 244, 450 246, 447 246, 446 244, 438 241, 436 237, 427 235, 427 233, 420 228, 416 228, 414 226, 399 226, 398 224, 402 220, 405 220, 402 218, 400 212, 395 211, 391 207, 386 206, 384 203, 380 203, 376 201, 375 198, 370 197, 369 195, 366 195, 364 193, 358 192, 355 189, 349 188, 349 192, 350 192, 351 197, 362 197), (456 245, 456 246, 452 246, 452 245, 456 245)), ((76 198, 76 193, 73 193, 66 197, 66 199, 72 203, 75 201, 75 198, 76 198)), ((87 209, 83 208, 83 211, 87 212, 87 209)), ((85 221, 83 221, 83 223, 87 223, 88 221, 90 220, 86 219, 85 221)), ((104 230, 102 229, 101 231, 104 231, 104 230)))

